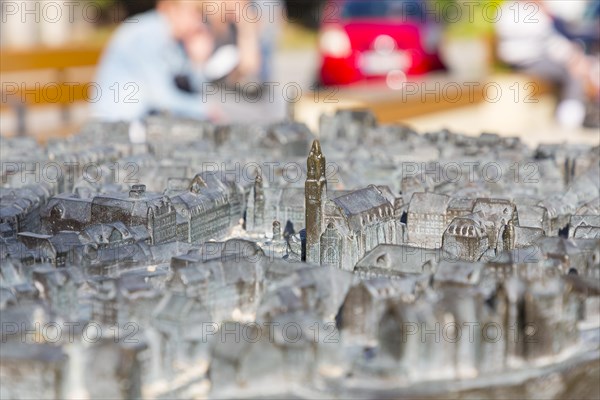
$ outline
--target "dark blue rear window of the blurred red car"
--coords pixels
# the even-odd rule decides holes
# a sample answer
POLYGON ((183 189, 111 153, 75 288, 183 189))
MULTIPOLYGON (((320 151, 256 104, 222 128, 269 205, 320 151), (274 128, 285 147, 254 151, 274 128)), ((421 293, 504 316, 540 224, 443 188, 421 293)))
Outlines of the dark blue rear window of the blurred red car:
POLYGON ((403 17, 421 20, 425 15, 419 0, 348 0, 342 7, 344 19, 403 17))

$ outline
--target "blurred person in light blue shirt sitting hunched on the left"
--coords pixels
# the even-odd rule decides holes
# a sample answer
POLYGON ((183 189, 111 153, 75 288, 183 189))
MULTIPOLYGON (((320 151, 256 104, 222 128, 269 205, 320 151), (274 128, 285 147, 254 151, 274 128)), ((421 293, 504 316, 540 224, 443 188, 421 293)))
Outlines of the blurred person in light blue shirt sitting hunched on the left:
POLYGON ((137 120, 168 112, 216 118, 200 94, 202 66, 214 48, 202 6, 199 0, 159 0, 117 29, 98 68, 94 117, 137 120))

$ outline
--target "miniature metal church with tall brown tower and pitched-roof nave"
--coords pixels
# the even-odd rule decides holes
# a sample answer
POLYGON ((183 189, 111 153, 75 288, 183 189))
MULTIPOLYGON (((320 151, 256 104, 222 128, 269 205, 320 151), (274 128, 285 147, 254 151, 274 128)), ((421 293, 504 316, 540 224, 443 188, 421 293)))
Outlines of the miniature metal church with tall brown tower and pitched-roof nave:
POLYGON ((315 140, 305 183, 306 261, 352 270, 379 244, 399 244, 400 206, 387 186, 370 185, 327 198, 326 160, 315 140))

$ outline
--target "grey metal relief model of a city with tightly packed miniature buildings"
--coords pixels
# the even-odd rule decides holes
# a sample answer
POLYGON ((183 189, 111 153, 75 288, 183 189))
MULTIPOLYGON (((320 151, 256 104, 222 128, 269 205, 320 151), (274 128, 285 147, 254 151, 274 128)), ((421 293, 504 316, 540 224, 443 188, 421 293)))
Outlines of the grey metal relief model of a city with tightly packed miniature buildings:
POLYGON ((319 125, 2 138, 0 398, 600 396, 598 147, 319 125))

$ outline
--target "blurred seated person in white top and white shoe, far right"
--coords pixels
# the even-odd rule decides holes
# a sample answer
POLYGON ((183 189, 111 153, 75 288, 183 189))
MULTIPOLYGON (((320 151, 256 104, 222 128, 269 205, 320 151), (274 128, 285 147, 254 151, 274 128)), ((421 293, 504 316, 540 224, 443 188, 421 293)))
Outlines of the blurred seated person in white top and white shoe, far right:
POLYGON ((512 68, 560 86, 556 118, 565 128, 580 127, 588 95, 597 92, 593 71, 598 60, 557 29, 559 24, 542 0, 503 3, 496 22, 498 57, 512 68))

